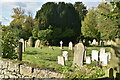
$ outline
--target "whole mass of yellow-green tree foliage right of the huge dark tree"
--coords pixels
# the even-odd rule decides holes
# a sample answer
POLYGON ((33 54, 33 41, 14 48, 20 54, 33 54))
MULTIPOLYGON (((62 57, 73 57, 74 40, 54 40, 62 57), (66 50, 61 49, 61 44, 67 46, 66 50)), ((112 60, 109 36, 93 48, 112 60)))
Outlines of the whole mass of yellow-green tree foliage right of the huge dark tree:
POLYGON ((120 2, 101 3, 89 10, 82 22, 85 37, 100 37, 102 40, 120 37, 120 2), (98 36, 97 36, 97 33, 98 36))

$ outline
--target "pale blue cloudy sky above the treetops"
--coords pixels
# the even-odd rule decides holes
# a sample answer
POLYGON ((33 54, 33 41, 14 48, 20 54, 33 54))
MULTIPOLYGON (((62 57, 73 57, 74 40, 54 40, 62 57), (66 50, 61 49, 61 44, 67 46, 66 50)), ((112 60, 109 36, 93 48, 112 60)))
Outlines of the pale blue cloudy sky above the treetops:
POLYGON ((41 6, 46 2, 67 2, 75 3, 77 1, 82 1, 87 9, 91 7, 97 7, 103 0, 0 0, 0 21, 2 25, 9 25, 13 20, 11 15, 13 15, 13 8, 22 7, 25 11, 32 12, 33 17, 35 17, 36 11, 40 10, 41 6))

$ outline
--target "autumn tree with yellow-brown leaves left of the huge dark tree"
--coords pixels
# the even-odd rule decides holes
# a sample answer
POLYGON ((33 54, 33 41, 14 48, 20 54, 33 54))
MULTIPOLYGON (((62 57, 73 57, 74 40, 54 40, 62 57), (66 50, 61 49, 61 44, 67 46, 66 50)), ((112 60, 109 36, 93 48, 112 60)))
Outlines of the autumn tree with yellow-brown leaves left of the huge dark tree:
POLYGON ((25 10, 21 7, 13 8, 14 14, 11 16, 14 18, 10 26, 14 29, 16 35, 19 38, 28 39, 33 29, 33 18, 31 12, 25 15, 25 10))

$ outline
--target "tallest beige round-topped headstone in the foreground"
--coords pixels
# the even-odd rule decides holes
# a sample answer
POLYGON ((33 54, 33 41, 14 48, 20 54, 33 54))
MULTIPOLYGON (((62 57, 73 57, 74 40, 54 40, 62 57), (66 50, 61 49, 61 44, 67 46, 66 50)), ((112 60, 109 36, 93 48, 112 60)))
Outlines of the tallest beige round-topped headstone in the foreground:
POLYGON ((85 51, 85 48, 83 43, 78 43, 75 45, 73 65, 78 65, 79 67, 83 65, 84 51, 85 51))

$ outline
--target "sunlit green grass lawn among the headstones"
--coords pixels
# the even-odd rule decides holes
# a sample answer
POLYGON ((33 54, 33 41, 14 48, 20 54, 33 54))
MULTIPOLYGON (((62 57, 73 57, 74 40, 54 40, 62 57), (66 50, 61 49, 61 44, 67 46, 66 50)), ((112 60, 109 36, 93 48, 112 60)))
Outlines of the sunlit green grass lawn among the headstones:
MULTIPOLYGON (((110 47, 105 47, 106 51, 110 50, 110 47)), ((67 47, 64 47, 63 50, 67 50, 68 53, 68 62, 66 62, 67 66, 72 66, 73 61, 73 51, 69 51, 67 47)), ((99 50, 100 47, 87 47, 87 56, 91 55, 92 50, 99 50)), ((62 55, 62 50, 59 47, 53 46, 53 49, 49 47, 34 48, 27 47, 26 51, 23 53, 23 61, 30 62, 33 64, 37 64, 40 67, 44 68, 52 68, 55 70, 60 70, 61 65, 57 63, 57 56, 62 55)))

